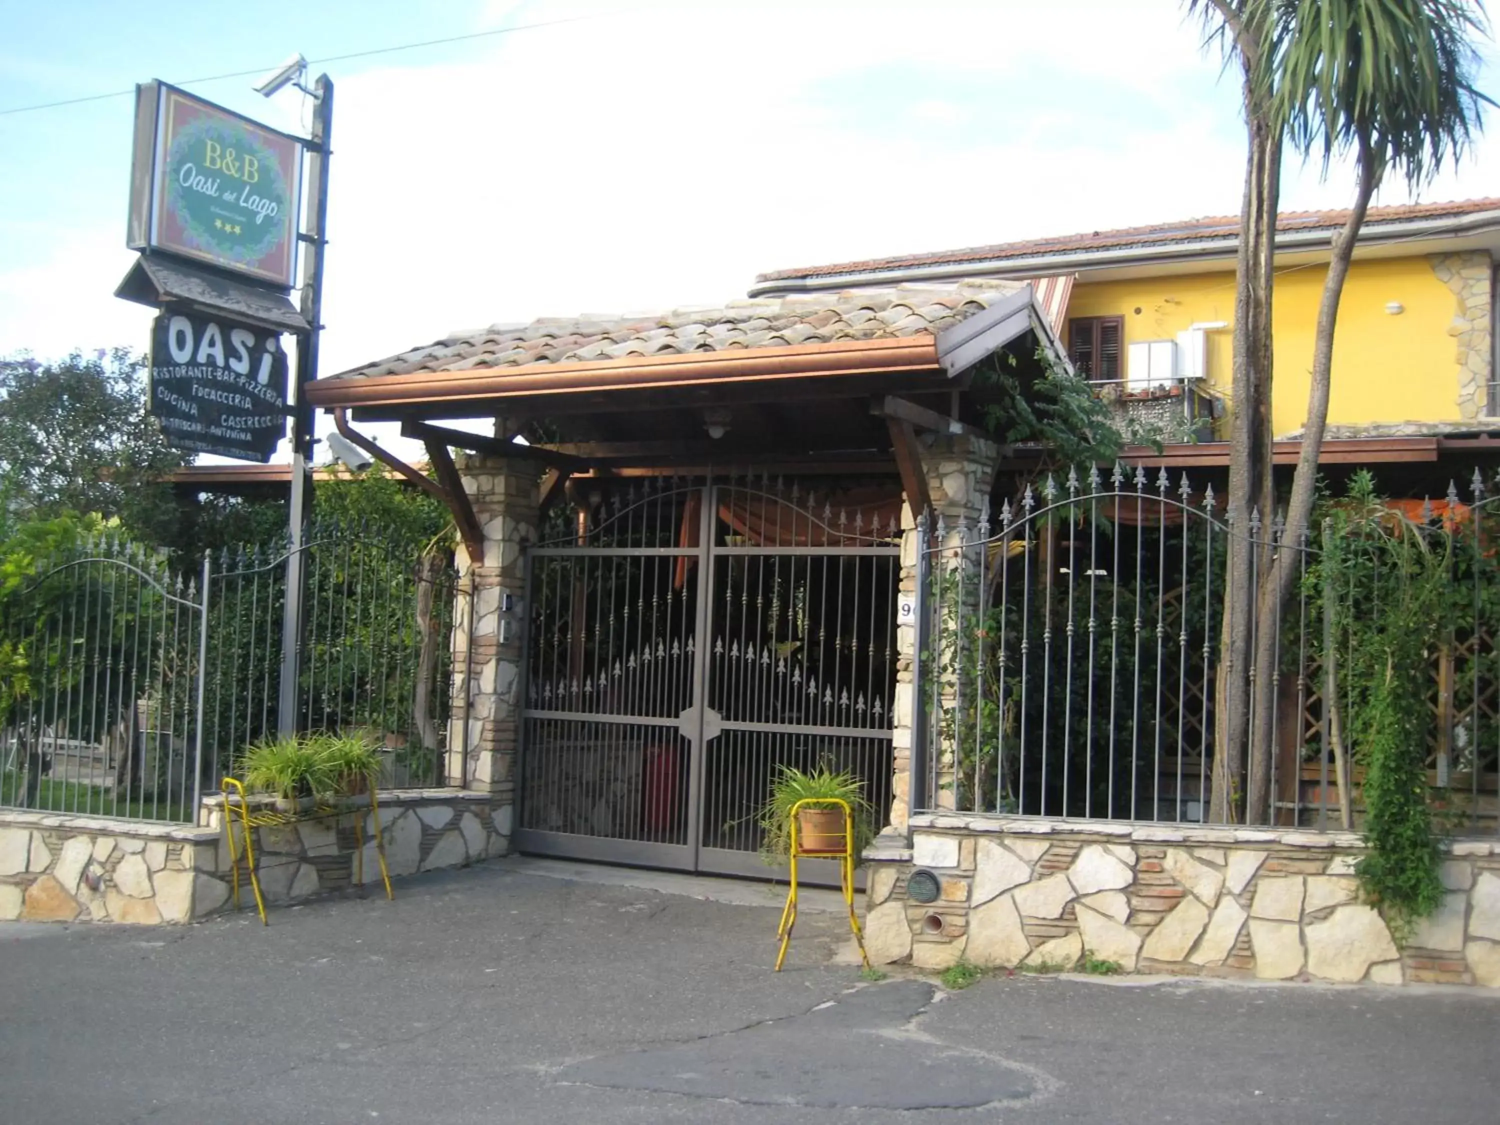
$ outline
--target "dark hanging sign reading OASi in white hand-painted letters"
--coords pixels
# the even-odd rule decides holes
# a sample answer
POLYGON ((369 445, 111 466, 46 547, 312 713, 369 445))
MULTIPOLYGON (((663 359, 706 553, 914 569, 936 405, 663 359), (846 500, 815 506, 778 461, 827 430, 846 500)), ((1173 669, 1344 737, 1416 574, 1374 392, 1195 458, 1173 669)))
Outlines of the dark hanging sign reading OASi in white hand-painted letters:
POLYGON ((266 328, 190 312, 152 327, 152 414, 171 446, 267 462, 286 432, 286 352, 266 328))

